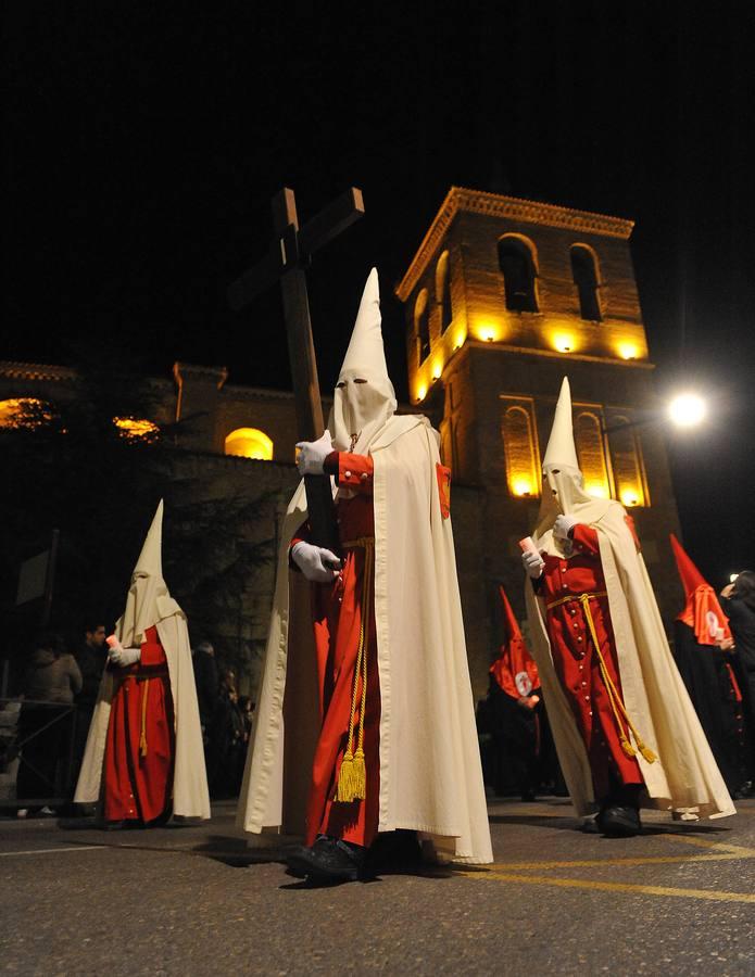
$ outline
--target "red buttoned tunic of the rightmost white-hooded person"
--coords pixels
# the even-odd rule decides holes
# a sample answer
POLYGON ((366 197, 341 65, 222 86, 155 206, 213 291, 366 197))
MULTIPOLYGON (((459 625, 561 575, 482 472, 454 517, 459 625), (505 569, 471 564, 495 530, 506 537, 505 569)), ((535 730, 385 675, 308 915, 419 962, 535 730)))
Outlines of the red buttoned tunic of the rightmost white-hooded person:
MULTIPOLYGON (((568 559, 546 555, 543 575, 538 583, 546 605, 571 595, 605 594, 596 531, 587 525, 575 525, 574 554, 568 559)), ((591 599, 590 611, 608 674, 621 696, 608 598, 591 599)), ((627 757, 621 749, 616 716, 582 606, 578 600, 569 600, 550 608, 546 622, 553 664, 587 747, 595 798, 607 798, 612 782, 644 783, 637 760, 627 757)), ((626 723, 624 728, 626 731, 626 723)))

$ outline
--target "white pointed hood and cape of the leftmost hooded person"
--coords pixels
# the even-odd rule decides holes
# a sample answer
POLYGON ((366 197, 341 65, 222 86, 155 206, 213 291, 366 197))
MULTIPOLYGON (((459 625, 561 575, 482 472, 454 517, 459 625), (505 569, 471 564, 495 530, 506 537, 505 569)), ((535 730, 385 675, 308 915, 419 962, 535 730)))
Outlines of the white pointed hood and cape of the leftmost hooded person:
MULTIPOLYGON (((131 585, 126 596, 126 608, 115 625, 109 665, 105 669, 97 705, 89 727, 84 762, 76 786, 77 803, 95 803, 101 797, 103 767, 106 764, 105 748, 114 699, 122 694, 126 676, 135 680, 144 708, 150 708, 149 685, 156 680, 150 675, 146 652, 149 637, 156 632, 167 663, 169 678, 168 716, 173 715, 174 757, 172 810, 184 817, 210 817, 210 795, 204 766, 202 729, 197 703, 191 646, 186 616, 171 597, 162 570, 163 503, 160 502, 139 559, 131 574, 131 585), (153 631, 154 630, 154 631, 153 631)), ((160 655, 160 652, 158 652, 160 655)), ((162 655, 160 655, 162 657, 162 655)), ((152 701, 155 701, 152 688, 152 701)), ((144 720, 142 720, 143 726, 144 720)), ((144 743, 144 763, 149 757, 149 744, 144 743)), ((139 761, 137 761, 138 765, 139 761)), ((141 772, 131 769, 133 778, 141 772)), ((136 814, 136 812, 135 812, 136 814)), ((136 820, 136 816, 135 816, 136 820)))

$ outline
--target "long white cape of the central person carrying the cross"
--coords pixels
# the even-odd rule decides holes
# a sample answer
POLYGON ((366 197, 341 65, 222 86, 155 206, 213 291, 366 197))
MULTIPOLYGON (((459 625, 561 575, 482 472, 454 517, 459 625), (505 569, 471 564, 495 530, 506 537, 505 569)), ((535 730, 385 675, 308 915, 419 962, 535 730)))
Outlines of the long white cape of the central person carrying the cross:
MULTIPOLYGON (((379 832, 414 829, 441 860, 492 861, 451 520, 437 434, 394 417, 375 464, 375 614, 380 674, 379 832)), ((239 798, 244 830, 303 833, 319 707, 310 585, 289 571, 306 518, 303 485, 281 530, 264 675, 239 798)))

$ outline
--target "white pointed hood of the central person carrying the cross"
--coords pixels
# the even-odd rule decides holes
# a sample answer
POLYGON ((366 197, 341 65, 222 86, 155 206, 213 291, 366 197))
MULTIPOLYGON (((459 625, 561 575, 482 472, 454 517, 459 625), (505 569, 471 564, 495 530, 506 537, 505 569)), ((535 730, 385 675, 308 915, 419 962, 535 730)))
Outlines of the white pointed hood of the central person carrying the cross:
POLYGON ((335 448, 366 455, 395 408, 382 345, 378 274, 373 268, 334 394, 328 428, 335 448))

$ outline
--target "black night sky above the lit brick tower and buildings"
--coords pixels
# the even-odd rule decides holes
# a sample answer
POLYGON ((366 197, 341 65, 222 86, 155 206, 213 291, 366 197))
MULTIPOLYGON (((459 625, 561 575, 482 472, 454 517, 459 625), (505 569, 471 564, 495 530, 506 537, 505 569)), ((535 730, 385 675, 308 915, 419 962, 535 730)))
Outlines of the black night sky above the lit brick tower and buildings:
POLYGON ((452 183, 629 217, 658 392, 712 403, 669 434, 684 542, 714 584, 755 567, 751 3, 190 7, 11 4, 0 358, 104 343, 286 388, 277 291, 235 316, 225 290, 273 193, 305 221, 353 185, 310 274, 320 383, 377 265, 405 397, 392 290, 452 183))

